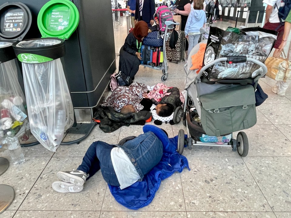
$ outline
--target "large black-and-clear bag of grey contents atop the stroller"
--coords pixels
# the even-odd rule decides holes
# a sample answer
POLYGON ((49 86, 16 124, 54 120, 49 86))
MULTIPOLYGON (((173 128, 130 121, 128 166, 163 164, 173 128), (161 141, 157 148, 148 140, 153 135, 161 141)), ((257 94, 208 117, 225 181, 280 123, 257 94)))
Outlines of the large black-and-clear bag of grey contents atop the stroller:
MULTIPOLYGON (((246 56, 264 63, 276 41, 276 31, 259 27, 228 28, 226 31, 211 27, 203 64, 209 64, 216 58, 227 56, 246 56)), ((256 77, 262 69, 259 65, 246 61, 243 63, 215 64, 206 69, 203 75, 210 80, 245 79, 256 77), (224 68, 222 68, 224 67, 224 68), (225 72, 222 72, 222 70, 225 72)))

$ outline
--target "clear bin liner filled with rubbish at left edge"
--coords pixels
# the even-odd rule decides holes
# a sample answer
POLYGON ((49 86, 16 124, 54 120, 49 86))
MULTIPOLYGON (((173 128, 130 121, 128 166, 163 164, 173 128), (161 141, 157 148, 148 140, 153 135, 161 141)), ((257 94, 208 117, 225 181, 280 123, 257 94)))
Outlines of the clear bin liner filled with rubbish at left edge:
MULTIPOLYGON (((0 42, 0 49, 11 46, 10 42, 0 42)), ((18 82, 15 59, 0 64, 0 128, 5 134, 12 132, 19 140, 28 140, 29 135, 22 138, 29 130, 27 113, 25 111, 26 100, 18 82), (25 128, 22 128, 25 123, 25 128), (20 129, 22 128, 22 131, 20 129), (24 130, 25 129, 25 130, 24 130)), ((2 136, 3 137, 3 136, 2 136)))

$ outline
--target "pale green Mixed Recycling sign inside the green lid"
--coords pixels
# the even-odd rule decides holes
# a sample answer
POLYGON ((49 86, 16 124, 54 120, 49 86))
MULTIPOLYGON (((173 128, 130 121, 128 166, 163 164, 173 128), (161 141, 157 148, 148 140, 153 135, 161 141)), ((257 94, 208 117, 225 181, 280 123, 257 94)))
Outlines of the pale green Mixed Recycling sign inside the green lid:
POLYGON ((49 31, 65 30, 69 26, 70 10, 52 10, 49 18, 49 31))

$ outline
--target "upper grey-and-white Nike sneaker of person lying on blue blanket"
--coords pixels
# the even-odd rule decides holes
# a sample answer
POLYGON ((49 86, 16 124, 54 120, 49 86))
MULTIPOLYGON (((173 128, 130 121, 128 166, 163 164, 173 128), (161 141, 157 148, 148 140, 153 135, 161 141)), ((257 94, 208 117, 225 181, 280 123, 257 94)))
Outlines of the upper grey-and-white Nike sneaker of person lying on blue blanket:
POLYGON ((77 186, 82 186, 84 185, 87 177, 89 176, 89 174, 87 175, 86 173, 82 173, 79 170, 74 170, 74 171, 66 171, 66 172, 62 172, 59 171, 57 172, 57 177, 66 182, 66 183, 73 183, 77 186))

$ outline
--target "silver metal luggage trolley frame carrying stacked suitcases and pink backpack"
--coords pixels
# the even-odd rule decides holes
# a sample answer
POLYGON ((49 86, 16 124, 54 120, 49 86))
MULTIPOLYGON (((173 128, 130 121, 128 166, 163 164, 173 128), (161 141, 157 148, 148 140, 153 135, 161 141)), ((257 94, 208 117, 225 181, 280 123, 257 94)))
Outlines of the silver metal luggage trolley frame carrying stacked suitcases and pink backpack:
POLYGON ((161 77, 162 81, 166 81, 168 78, 168 63, 167 63, 167 55, 166 55, 166 41, 168 41, 168 39, 171 36, 171 31, 174 29, 170 29, 170 31, 168 32, 168 26, 169 25, 180 25, 179 23, 175 23, 172 21, 165 21, 165 25, 166 25, 166 29, 165 32, 159 32, 159 37, 162 37, 164 39, 163 41, 163 58, 164 61, 162 62, 162 64, 160 66, 153 66, 153 65, 148 65, 148 64, 141 64, 142 66, 144 66, 144 68, 148 67, 148 68, 152 68, 154 70, 161 70, 163 75, 161 77), (166 35, 166 36, 165 36, 166 35))

